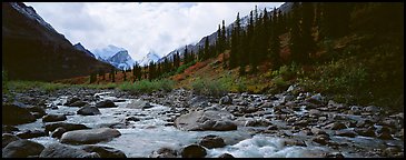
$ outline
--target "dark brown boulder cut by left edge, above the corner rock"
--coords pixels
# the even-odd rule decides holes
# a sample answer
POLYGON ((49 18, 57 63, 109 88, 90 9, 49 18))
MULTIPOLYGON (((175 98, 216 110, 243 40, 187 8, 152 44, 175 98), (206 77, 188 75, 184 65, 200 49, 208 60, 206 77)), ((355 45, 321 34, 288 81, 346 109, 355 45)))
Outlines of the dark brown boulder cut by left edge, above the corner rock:
POLYGON ((27 108, 16 104, 2 104, 2 124, 22 124, 36 121, 27 108))

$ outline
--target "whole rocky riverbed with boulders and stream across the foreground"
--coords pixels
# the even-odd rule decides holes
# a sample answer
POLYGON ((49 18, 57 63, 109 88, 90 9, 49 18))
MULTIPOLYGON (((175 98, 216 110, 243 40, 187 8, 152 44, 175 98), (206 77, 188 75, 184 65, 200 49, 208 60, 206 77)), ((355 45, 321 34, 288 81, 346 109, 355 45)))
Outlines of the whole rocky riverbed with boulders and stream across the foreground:
POLYGON ((404 112, 294 92, 3 94, 2 157, 404 157, 404 112))

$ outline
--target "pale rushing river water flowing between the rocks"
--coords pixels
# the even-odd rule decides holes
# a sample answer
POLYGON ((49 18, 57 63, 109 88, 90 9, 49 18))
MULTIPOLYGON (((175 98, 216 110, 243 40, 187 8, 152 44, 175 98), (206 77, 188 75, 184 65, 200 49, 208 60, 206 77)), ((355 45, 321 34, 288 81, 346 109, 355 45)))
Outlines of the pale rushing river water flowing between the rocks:
MULTIPOLYGON (((110 92, 97 93, 102 99, 116 100, 110 97, 110 92)), ((129 109, 126 108, 133 99, 122 99, 121 102, 115 102, 117 108, 100 108, 101 114, 98 116, 80 116, 76 114, 79 108, 58 106, 59 109, 47 109, 47 113, 62 113, 67 116, 65 122, 81 123, 89 128, 109 127, 116 124, 121 136, 108 142, 99 142, 99 146, 107 146, 119 149, 129 158, 149 157, 152 151, 162 147, 169 147, 180 150, 182 147, 190 143, 198 143, 199 140, 208 134, 221 137, 227 143, 224 148, 208 149, 206 157, 218 157, 222 153, 230 153, 238 158, 295 158, 295 157, 323 157, 323 153, 336 152, 328 147, 313 146, 306 143, 301 146, 286 146, 285 138, 271 134, 261 134, 249 132, 252 127, 238 127, 235 131, 181 131, 171 124, 168 124, 168 119, 174 119, 180 113, 168 113, 171 108, 151 103, 154 107, 149 109, 129 109), (129 121, 126 127, 121 127, 125 119, 128 117, 138 118, 139 121, 129 121)), ((67 97, 61 97, 52 101, 53 104, 65 103, 67 97)), ((90 103, 95 104, 95 102, 90 103)), ((300 109, 298 114, 305 110, 300 109)), ((36 122, 17 126, 20 130, 41 129, 43 128, 41 119, 36 122)), ((306 136, 303 136, 306 140, 306 136)), ((384 142, 365 137, 343 138, 331 137, 337 141, 353 141, 358 146, 372 146, 376 148, 384 142)), ((32 138, 31 140, 48 146, 57 142, 58 139, 51 137, 32 138)), ((75 147, 75 146, 73 146, 75 147)), ((345 157, 362 157, 349 149, 341 151, 345 157)))

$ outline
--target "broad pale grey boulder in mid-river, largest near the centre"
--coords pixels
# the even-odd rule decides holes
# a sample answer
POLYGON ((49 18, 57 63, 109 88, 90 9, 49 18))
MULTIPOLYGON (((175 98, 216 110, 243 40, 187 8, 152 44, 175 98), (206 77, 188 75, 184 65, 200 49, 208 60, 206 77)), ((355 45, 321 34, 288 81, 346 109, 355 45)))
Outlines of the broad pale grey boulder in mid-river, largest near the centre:
POLYGON ((228 131, 237 130, 237 126, 230 121, 234 116, 227 111, 191 111, 175 120, 175 127, 187 131, 228 131))

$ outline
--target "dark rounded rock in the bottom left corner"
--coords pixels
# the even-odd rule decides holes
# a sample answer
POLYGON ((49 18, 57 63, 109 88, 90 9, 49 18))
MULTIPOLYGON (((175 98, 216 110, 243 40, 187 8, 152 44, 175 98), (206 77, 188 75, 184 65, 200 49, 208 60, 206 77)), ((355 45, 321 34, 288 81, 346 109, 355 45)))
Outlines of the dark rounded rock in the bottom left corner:
POLYGON ((10 142, 2 149, 2 158, 27 158, 38 156, 43 150, 43 146, 30 140, 17 140, 10 142))

